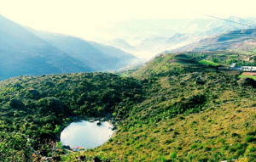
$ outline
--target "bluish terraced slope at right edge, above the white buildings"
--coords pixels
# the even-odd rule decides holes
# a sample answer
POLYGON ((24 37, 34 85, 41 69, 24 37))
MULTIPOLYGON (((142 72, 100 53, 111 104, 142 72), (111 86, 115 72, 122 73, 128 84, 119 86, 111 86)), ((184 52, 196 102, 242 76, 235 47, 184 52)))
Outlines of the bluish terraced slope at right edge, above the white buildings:
POLYGON ((200 42, 180 47, 172 52, 183 51, 217 51, 253 53, 256 49, 256 29, 230 31, 221 35, 202 39, 200 42))

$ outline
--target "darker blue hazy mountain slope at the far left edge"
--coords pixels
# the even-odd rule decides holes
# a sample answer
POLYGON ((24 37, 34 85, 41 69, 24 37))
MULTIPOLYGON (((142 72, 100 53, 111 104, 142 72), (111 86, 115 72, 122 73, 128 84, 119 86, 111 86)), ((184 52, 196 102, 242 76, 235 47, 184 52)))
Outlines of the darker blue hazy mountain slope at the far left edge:
POLYGON ((0 17, 0 80, 15 75, 91 71, 89 66, 0 17))

